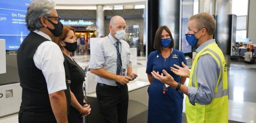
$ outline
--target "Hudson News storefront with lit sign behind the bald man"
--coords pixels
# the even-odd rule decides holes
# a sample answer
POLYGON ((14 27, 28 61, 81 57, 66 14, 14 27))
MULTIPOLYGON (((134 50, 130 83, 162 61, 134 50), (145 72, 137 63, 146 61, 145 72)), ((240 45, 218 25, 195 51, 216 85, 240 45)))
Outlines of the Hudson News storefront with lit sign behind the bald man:
MULTIPOLYGON (((96 10, 57 10, 61 23, 71 26, 76 31, 76 37, 85 37, 87 43, 90 37, 96 37, 96 10)), ((138 56, 145 55, 143 42, 144 9, 104 10, 105 35, 109 34, 109 23, 113 16, 119 15, 126 21, 126 35, 123 38, 130 47, 137 47, 138 56), (142 52, 142 53, 141 53, 142 52)), ((89 46, 89 45, 88 45, 89 46)))

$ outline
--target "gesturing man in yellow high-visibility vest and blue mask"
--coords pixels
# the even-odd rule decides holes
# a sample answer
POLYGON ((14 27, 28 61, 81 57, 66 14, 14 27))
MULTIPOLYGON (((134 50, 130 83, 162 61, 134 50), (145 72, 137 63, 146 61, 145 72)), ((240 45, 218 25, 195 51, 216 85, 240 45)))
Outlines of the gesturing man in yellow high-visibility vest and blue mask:
POLYGON ((189 18, 187 42, 197 46, 197 55, 191 71, 171 68, 175 74, 188 77, 188 87, 180 85, 165 70, 163 74, 151 72, 154 78, 186 94, 186 117, 188 123, 228 123, 228 77, 224 55, 213 39, 216 21, 208 13, 189 18))

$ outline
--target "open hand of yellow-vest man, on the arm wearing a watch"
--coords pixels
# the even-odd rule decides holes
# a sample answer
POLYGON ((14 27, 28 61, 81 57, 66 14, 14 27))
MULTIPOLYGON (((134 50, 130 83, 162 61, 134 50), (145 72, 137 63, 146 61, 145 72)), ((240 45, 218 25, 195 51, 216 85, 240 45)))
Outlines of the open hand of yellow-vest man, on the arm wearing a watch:
POLYGON ((175 82, 174 79, 172 78, 172 76, 169 73, 167 73, 167 71, 163 70, 163 73, 161 73, 161 75, 160 75, 158 71, 151 72, 151 74, 153 75, 153 77, 155 79, 163 82, 164 84, 171 86, 172 83, 175 82), (163 76, 163 73, 165 74, 165 76, 163 76))

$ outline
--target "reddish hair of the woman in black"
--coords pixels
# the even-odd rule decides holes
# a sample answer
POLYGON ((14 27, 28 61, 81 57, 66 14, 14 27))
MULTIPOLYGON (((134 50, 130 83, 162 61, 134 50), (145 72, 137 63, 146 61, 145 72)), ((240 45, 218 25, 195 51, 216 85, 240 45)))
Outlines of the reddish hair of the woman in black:
POLYGON ((62 29, 62 34, 59 37, 54 37, 52 41, 61 47, 60 41, 63 41, 67 37, 69 30, 72 30, 75 33, 74 28, 70 26, 64 26, 62 29))

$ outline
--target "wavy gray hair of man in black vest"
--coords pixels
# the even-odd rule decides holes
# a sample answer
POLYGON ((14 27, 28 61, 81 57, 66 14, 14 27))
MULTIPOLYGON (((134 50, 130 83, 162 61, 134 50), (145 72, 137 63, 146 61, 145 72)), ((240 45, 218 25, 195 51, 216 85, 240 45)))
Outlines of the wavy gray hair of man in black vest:
POLYGON ((33 0, 27 7, 26 26, 29 31, 39 30, 43 25, 40 18, 49 16, 55 7, 55 2, 48 0, 33 0))

